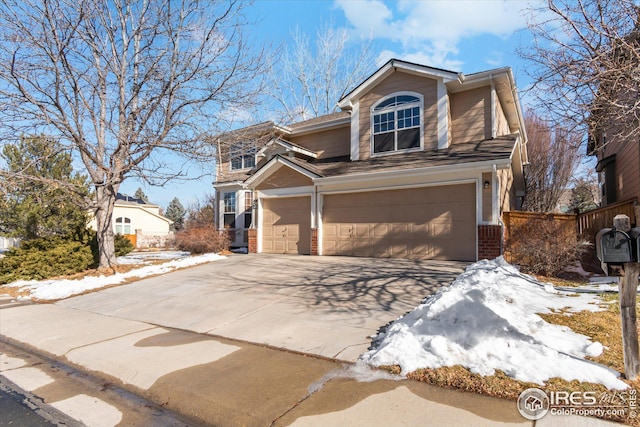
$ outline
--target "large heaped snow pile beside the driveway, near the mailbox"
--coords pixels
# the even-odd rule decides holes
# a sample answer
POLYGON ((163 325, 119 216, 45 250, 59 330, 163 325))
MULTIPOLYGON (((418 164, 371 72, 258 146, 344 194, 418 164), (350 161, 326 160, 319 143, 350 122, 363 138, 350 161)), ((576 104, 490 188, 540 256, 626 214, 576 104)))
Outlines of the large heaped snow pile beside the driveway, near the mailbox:
POLYGON ((502 258, 484 260, 393 322, 361 358, 375 366, 399 365, 403 374, 462 365, 479 375, 500 369, 537 384, 560 377, 626 388, 618 372, 584 359, 599 355, 602 344, 536 314, 566 307, 597 311, 598 302, 595 294, 559 292, 502 258))

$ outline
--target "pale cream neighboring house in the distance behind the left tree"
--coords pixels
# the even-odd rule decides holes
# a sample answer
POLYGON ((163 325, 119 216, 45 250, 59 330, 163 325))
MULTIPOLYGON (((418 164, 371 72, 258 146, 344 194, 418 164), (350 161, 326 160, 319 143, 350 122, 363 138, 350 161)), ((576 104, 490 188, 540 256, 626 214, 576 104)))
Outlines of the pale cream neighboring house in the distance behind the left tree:
MULTIPOLYGON (((113 232, 131 240, 137 248, 164 246, 172 236, 173 221, 160 213, 160 207, 124 194, 117 194, 113 208, 113 232)), ((95 219, 89 227, 96 229, 95 219)))

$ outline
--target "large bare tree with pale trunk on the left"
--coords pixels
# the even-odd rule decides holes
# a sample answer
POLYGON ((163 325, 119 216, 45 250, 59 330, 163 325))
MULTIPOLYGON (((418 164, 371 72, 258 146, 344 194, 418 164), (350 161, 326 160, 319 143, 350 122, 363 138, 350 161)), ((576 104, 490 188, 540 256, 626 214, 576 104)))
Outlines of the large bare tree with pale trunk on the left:
POLYGON ((82 162, 101 268, 116 263, 121 183, 180 177, 176 153, 214 158, 204 135, 254 101, 263 61, 242 12, 240 0, 0 1, 0 140, 51 135, 82 162))

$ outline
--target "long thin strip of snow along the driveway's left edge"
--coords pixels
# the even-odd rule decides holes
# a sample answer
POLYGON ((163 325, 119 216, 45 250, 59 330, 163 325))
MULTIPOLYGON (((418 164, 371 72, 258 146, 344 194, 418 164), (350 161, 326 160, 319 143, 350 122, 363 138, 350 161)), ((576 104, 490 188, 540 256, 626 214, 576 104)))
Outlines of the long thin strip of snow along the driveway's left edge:
POLYGON ((225 259, 225 257, 217 254, 205 254, 175 259, 158 265, 149 265, 126 273, 116 273, 111 276, 87 276, 79 280, 20 280, 4 286, 19 288, 22 292, 28 292, 28 295, 20 297, 20 300, 57 300, 78 295, 86 291, 124 283, 129 279, 140 279, 147 276, 165 274, 178 268, 191 267, 220 259, 225 259))

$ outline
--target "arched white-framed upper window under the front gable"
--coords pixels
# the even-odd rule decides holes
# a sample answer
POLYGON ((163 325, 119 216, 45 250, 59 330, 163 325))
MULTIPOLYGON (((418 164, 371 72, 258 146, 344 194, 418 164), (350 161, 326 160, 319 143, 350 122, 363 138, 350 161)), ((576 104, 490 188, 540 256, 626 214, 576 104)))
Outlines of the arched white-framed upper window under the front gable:
POLYGON ((373 154, 421 147, 422 97, 395 94, 371 108, 373 154))

